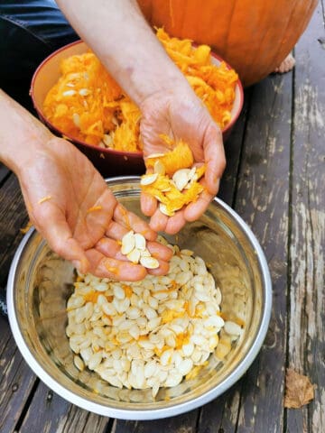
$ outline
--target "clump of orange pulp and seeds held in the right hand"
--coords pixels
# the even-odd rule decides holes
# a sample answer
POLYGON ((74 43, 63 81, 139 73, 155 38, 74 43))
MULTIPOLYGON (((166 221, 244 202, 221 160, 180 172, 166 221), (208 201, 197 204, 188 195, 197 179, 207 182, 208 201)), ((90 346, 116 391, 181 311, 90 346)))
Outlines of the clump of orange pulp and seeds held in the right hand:
POLYGON ((149 155, 145 164, 153 173, 142 176, 141 189, 159 201, 161 212, 168 217, 195 202, 204 190, 198 180, 206 167, 191 167, 193 155, 188 144, 182 141, 171 152, 149 155))

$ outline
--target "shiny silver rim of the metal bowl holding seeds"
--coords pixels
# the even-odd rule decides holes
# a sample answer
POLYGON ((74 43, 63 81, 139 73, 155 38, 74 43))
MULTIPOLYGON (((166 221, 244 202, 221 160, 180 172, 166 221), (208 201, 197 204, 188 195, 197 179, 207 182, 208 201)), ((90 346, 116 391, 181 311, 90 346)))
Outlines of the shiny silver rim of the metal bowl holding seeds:
MULTIPOLYGON (((107 186, 110 184, 114 184, 114 182, 132 182, 139 181, 139 176, 124 176, 124 177, 114 177, 107 179, 107 186)), ((9 277, 7 282, 7 307, 8 307, 8 318, 11 330, 13 332, 14 340, 16 345, 18 346, 20 352, 23 355, 26 363, 31 367, 33 373, 35 373, 47 386, 51 388, 54 392, 57 392, 60 397, 69 401, 71 404, 76 404, 80 408, 84 410, 89 410, 98 415, 116 418, 116 419, 133 419, 133 420, 149 420, 149 419, 162 419, 168 418, 175 415, 180 415, 181 413, 188 412, 190 410, 196 409, 209 401, 216 399, 220 394, 226 392, 235 382, 237 382, 246 370, 253 364, 255 357, 258 355, 266 336, 266 332, 269 327, 269 322, 271 318, 272 311, 272 281, 271 275, 268 269, 268 265, 265 259, 265 253, 262 250, 261 245, 258 243, 255 235, 247 226, 246 222, 240 217, 235 210, 229 207, 223 200, 220 198, 214 198, 213 202, 215 202, 219 207, 221 207, 224 211, 228 213, 228 215, 236 221, 237 225, 241 227, 244 234, 247 236, 249 242, 252 244, 252 247, 255 250, 256 257, 258 259, 258 263, 261 269, 261 281, 264 284, 264 302, 261 312, 261 320, 260 327, 257 330, 255 341, 249 347, 246 353, 246 357, 243 358, 237 367, 229 373, 226 380, 224 382, 219 383, 214 388, 210 389, 208 392, 191 399, 190 401, 184 401, 179 404, 175 404, 169 406, 167 408, 160 409, 117 409, 112 406, 102 405, 100 403, 89 401, 85 397, 81 397, 73 392, 70 392, 69 389, 65 388, 60 382, 56 382, 50 373, 43 369, 42 364, 40 364, 32 355, 28 345, 26 344, 23 334, 20 330, 20 326, 17 320, 17 316, 15 313, 15 304, 14 304, 14 281, 15 281, 15 273, 19 264, 20 256, 23 253, 23 249, 25 245, 28 243, 30 237, 36 232, 36 230, 32 227, 26 235, 23 236, 21 243, 18 245, 18 248, 14 254, 14 259, 10 267, 9 277)))

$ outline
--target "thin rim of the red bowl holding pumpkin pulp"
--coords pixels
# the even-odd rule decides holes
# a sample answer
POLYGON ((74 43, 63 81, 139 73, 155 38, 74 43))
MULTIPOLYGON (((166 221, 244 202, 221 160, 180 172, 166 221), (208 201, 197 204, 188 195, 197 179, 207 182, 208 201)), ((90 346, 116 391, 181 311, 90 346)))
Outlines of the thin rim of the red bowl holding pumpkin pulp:
MULTIPOLYGON (((39 66, 37 67, 37 69, 35 69, 34 73, 32 74, 32 82, 31 82, 31 88, 30 88, 30 96, 32 98, 32 105, 34 106, 37 114, 42 118, 42 121, 49 125, 51 127, 52 130, 54 130, 56 132, 56 134, 60 135, 60 137, 66 138, 68 139, 70 142, 73 143, 77 143, 79 144, 79 146, 86 146, 89 149, 93 149, 96 150, 98 152, 104 152, 104 153, 113 153, 115 155, 121 155, 121 156, 127 156, 128 158, 143 158, 144 152, 141 151, 136 151, 136 152, 127 152, 127 151, 118 151, 115 149, 110 149, 108 147, 98 147, 95 144, 88 144, 85 142, 81 142, 80 140, 78 140, 77 138, 73 138, 71 137, 69 134, 63 134, 60 129, 58 129, 56 126, 54 126, 53 124, 51 124, 51 122, 42 114, 42 107, 40 107, 34 97, 34 88, 35 88, 35 82, 36 79, 39 75, 39 73, 41 72, 43 66, 49 61, 51 60, 53 57, 55 57, 56 55, 58 55, 61 51, 65 51, 75 45, 79 45, 80 43, 85 43, 87 45, 87 43, 85 41, 82 41, 81 39, 79 39, 78 41, 73 41, 70 42, 66 45, 63 45, 62 47, 60 47, 58 50, 51 52, 51 54, 49 56, 47 56, 44 60, 42 60, 42 62, 39 64, 39 66)), ((198 44, 193 43, 193 46, 197 46, 198 44)), ((213 58, 215 58, 218 61, 222 61, 226 64, 228 69, 233 69, 229 63, 226 60, 223 60, 218 54, 216 54, 214 51, 210 51, 210 54, 213 58)), ((243 85, 242 82, 238 76, 237 78, 237 87, 238 87, 238 95, 239 95, 239 101, 238 101, 238 109, 236 114, 234 115, 234 117, 231 119, 231 121, 225 126, 225 128, 220 129, 222 134, 227 134, 229 130, 231 130, 231 128, 233 127, 233 125, 237 122, 237 119, 243 109, 243 105, 244 105, 244 89, 243 89, 243 85)))

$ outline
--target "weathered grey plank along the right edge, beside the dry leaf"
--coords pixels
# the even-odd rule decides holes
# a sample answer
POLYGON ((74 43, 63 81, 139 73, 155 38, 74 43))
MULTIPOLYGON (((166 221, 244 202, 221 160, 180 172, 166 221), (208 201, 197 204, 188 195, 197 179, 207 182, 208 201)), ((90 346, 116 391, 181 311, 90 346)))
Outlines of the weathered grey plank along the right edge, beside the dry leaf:
MULTIPOLYGON (((322 2, 324 5, 324 2, 322 2)), ((295 49, 288 364, 310 377, 315 399, 287 410, 286 431, 325 431, 325 51, 321 3, 295 49)))

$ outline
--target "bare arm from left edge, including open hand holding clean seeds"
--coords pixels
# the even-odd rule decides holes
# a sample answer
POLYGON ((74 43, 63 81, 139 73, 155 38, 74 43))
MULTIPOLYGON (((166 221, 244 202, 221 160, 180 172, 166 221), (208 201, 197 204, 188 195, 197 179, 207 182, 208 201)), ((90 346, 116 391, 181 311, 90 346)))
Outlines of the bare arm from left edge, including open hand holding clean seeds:
MULTIPOLYGON (((0 161, 14 170, 32 224, 51 249, 81 272, 116 280, 141 280, 143 266, 125 262, 117 243, 130 226, 156 233, 116 201, 103 178, 71 143, 55 137, 35 117, 0 90, 0 161), (96 207, 96 212, 89 209, 96 207)), ((165 273, 171 250, 148 243, 165 273), (158 248, 158 250, 157 250, 158 248)))

